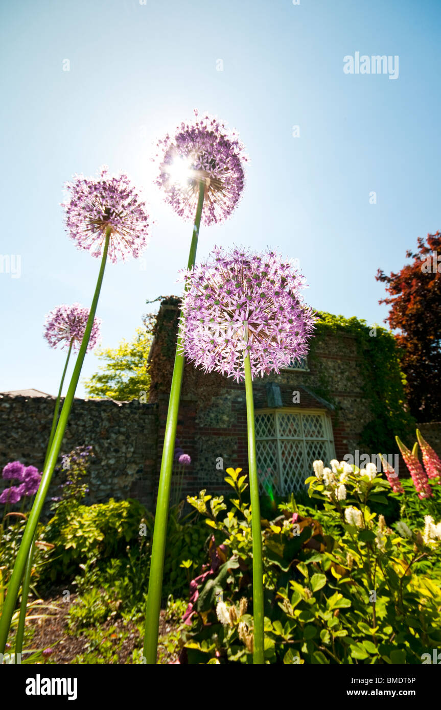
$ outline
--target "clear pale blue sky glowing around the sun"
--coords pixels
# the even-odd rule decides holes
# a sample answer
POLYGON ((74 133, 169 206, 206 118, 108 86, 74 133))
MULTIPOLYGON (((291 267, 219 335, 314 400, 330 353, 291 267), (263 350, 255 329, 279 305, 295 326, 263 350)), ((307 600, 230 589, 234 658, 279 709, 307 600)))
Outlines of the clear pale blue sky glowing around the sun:
MULTIPOLYGON (((398 270, 440 229, 439 1, 9 0, 0 13, 0 252, 21 256, 20 278, 0 273, 0 391, 55 394, 64 354, 43 339, 45 315, 90 305, 99 263, 59 205, 73 173, 125 170, 155 221, 145 261, 107 266, 102 344, 130 339, 147 299, 180 293, 191 225, 163 204, 150 155, 195 107, 251 158, 241 204, 201 228, 199 258, 278 247, 299 258, 312 306, 383 321, 377 268, 398 270), (356 52, 398 55, 398 78, 345 74, 356 52)), ((83 375, 98 365, 88 354, 83 375)))

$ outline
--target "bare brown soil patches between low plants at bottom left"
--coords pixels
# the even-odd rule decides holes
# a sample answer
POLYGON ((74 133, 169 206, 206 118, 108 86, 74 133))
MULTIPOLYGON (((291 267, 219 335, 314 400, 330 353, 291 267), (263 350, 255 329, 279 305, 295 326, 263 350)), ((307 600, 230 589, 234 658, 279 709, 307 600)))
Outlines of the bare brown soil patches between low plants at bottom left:
MULTIPOLYGON (((74 660, 78 654, 85 654, 89 651, 90 640, 86 635, 81 632, 77 632, 78 635, 72 635, 72 633, 67 633, 67 617, 70 609, 70 605, 75 602, 77 595, 71 594, 70 602, 67 603, 63 600, 61 590, 51 590, 48 596, 45 596, 45 603, 56 607, 55 609, 48 609, 45 613, 48 614, 43 619, 31 620, 29 623, 33 626, 34 634, 32 639, 33 649, 44 649, 52 648, 53 653, 50 655, 50 662, 56 664, 69 664, 74 660)), ((120 630, 129 632, 129 635, 121 643, 118 640, 119 648, 118 663, 128 664, 133 663, 133 652, 135 649, 141 649, 143 645, 143 638, 139 633, 138 626, 136 623, 123 618, 109 618, 105 621, 102 626, 102 630, 109 630, 109 637, 104 634, 104 639, 112 640, 116 633, 120 630)), ((159 637, 169 633, 170 630, 177 628, 173 622, 165 621, 165 612, 161 609, 160 611, 160 626, 159 626, 159 637)), ((161 662, 164 664, 174 663, 178 659, 177 654, 170 653, 166 650, 162 650, 161 662)))

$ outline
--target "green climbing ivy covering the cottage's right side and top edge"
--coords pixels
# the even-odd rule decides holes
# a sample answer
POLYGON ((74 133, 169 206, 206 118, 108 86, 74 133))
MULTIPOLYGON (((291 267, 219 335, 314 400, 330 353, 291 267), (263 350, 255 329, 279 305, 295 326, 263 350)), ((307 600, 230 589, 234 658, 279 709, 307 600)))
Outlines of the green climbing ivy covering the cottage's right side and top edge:
MULTIPOLYGON (((322 311, 318 311, 317 315, 320 320, 316 324, 315 338, 311 341, 312 359, 315 343, 327 334, 337 337, 351 335, 356 340, 366 407, 373 415, 361 432, 360 444, 374 454, 397 452, 395 436, 412 439, 415 420, 405 409, 405 377, 398 361, 393 334, 379 325, 370 327, 365 320, 356 317, 344 318, 322 311)), ((325 374, 322 379, 323 396, 329 398, 325 374)))

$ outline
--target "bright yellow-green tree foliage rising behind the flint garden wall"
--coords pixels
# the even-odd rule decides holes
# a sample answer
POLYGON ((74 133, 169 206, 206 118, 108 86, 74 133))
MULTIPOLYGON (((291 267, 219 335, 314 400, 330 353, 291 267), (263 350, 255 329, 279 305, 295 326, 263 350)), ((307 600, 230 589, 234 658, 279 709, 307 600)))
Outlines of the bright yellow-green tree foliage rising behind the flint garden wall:
POLYGON ((104 365, 85 381, 87 395, 92 399, 108 397, 126 401, 148 393, 150 375, 147 358, 151 338, 151 333, 139 327, 131 342, 121 340, 117 348, 97 349, 96 355, 104 365))

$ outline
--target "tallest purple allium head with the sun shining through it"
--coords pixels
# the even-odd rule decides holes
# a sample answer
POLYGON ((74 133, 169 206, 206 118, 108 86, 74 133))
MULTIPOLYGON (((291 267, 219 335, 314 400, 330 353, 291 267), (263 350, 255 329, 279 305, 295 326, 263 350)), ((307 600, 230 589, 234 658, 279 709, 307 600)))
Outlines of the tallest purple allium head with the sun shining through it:
MULTIPOLYGON (((224 222, 244 189, 244 163, 249 159, 235 131, 205 114, 180 124, 156 144, 160 173, 156 185, 184 219, 195 219, 199 183, 205 182, 202 222, 224 222)), ((153 159, 154 160, 154 159, 153 159)))

